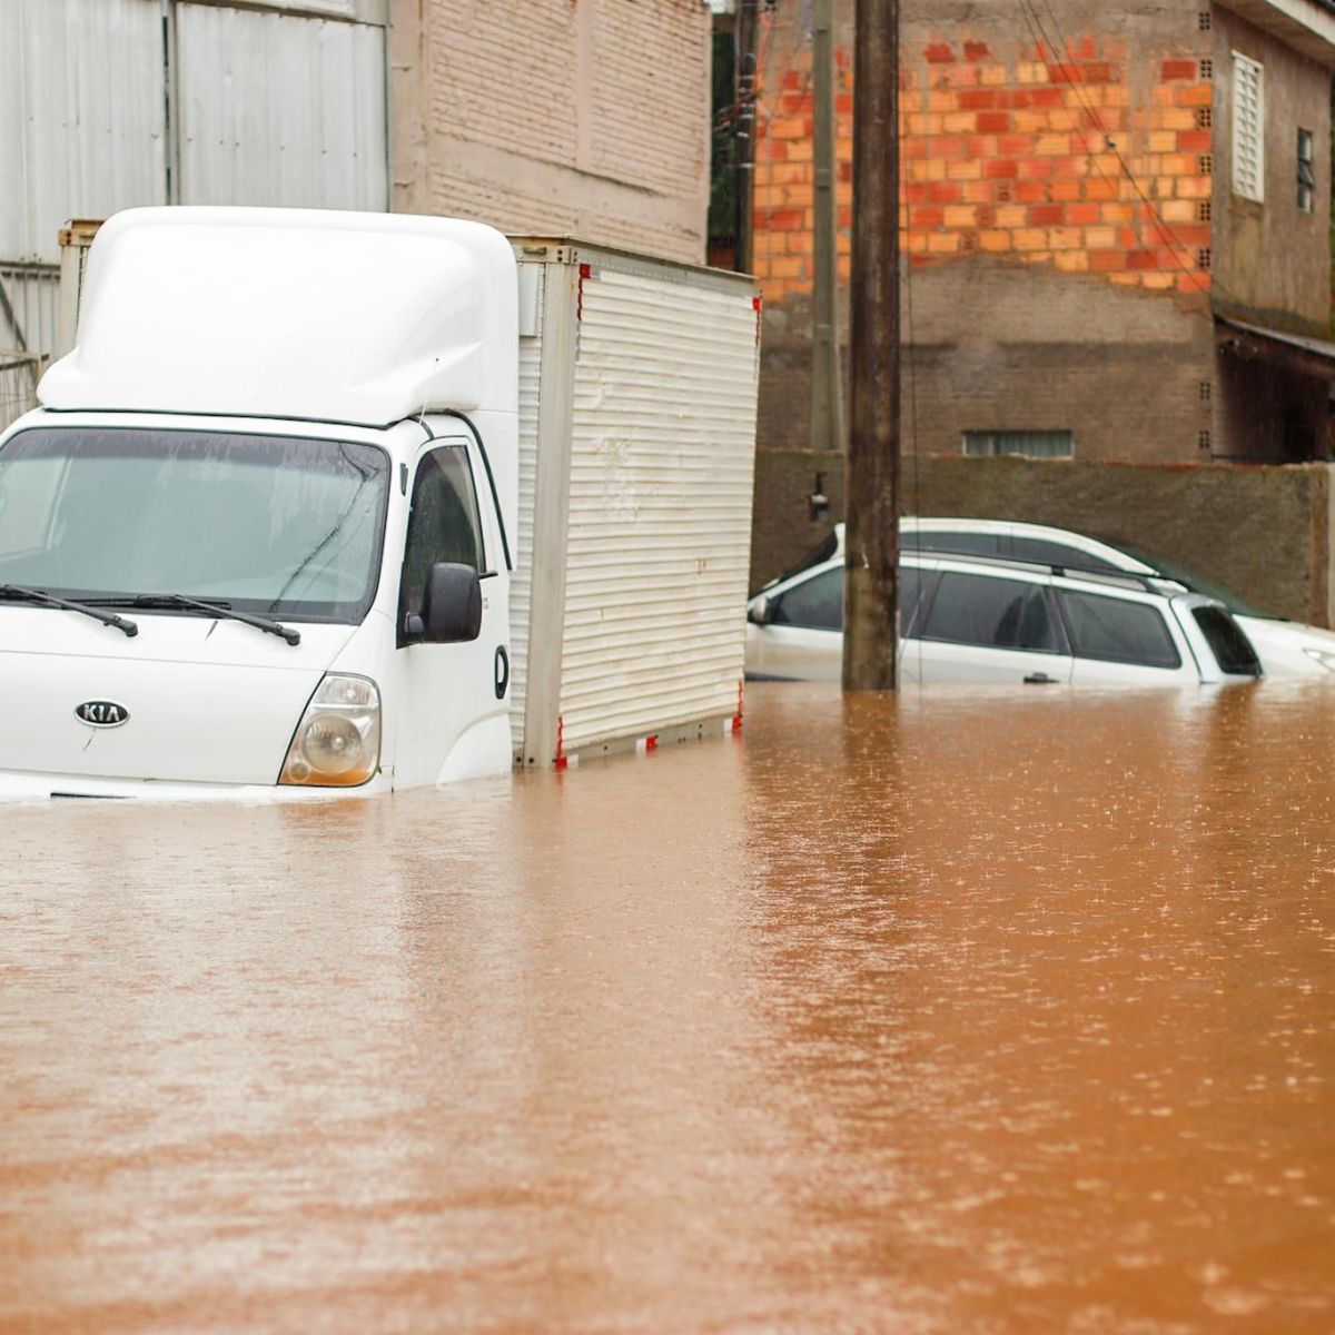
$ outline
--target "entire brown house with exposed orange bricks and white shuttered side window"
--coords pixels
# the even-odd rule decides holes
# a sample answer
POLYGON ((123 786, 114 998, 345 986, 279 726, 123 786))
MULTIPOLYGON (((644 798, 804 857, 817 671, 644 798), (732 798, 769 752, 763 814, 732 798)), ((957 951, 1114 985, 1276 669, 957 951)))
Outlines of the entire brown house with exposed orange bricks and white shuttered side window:
MULTIPOLYGON (((1335 4, 906 0, 901 12, 905 450, 1328 457, 1335 4)), ((852 3, 837 5, 844 283, 852 21, 852 3)), ((800 450, 814 172, 796 0, 777 0, 758 55, 761 446, 800 450)))

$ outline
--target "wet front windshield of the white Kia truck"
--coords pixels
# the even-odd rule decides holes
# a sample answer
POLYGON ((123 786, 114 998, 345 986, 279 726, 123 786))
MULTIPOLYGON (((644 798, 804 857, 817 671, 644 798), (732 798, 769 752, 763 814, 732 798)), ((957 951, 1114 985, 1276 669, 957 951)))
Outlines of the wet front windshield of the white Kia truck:
POLYGON ((21 431, 0 450, 0 583, 355 623, 375 597, 388 474, 383 450, 347 441, 21 431))

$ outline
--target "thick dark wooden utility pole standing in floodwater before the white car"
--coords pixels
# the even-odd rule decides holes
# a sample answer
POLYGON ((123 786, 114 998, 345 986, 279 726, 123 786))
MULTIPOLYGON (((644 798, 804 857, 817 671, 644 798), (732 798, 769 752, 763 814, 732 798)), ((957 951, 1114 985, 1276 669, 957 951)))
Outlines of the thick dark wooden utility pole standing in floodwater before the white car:
POLYGON ((897 682, 900 482, 898 0, 857 0, 853 278, 844 471, 844 689, 897 682))

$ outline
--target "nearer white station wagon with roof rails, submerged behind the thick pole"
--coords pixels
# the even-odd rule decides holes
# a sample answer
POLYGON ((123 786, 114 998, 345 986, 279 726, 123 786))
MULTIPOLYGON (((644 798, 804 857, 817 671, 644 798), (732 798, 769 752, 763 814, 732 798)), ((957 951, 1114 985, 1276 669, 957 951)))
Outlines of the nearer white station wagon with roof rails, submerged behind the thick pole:
MULTIPOLYGON (((838 681, 838 539, 820 557, 752 599, 749 677, 838 681)), ((1251 642, 1219 599, 1152 575, 1077 570, 1039 553, 967 555, 904 542, 900 627, 905 682, 1171 685, 1262 674, 1251 642)))

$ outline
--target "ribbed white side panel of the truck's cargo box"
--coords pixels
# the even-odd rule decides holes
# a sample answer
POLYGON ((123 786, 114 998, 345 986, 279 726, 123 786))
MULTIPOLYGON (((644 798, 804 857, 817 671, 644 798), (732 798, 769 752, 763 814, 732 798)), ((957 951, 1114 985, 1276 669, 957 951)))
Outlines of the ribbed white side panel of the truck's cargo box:
POLYGON ((750 286, 591 258, 570 463, 567 753, 737 712, 750 563, 750 286))

